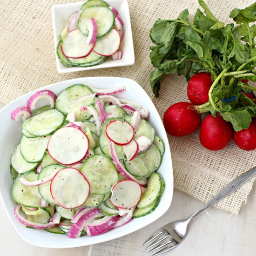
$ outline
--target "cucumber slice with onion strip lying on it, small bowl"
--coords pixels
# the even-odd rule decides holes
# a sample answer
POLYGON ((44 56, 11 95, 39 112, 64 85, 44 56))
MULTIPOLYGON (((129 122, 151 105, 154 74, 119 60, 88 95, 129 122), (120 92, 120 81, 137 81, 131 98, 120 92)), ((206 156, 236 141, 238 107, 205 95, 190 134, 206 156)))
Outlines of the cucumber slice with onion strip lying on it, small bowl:
POLYGON ((104 6, 91 6, 82 11, 78 19, 78 28, 88 36, 88 20, 94 18, 97 24, 97 38, 107 34, 115 23, 112 10, 104 6))

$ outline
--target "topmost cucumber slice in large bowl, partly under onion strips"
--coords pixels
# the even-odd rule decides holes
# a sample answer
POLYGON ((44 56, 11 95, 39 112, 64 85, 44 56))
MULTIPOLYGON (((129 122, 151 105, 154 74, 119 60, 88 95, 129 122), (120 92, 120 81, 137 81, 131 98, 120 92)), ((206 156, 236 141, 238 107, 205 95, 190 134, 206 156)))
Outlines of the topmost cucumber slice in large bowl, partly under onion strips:
MULTIPOLYGON (((92 94, 93 91, 86 85, 82 84, 75 84, 73 86, 68 87, 56 99, 55 108, 60 111, 61 113, 67 114, 72 112, 72 108, 69 107, 69 104, 73 101, 78 100, 82 96, 92 94)), ((88 105, 93 104, 94 101, 88 105)), ((83 103, 79 104, 80 106, 84 105, 83 103)), ((87 106, 88 106, 87 105, 87 106)), ((79 121, 79 120, 76 120, 79 121)))

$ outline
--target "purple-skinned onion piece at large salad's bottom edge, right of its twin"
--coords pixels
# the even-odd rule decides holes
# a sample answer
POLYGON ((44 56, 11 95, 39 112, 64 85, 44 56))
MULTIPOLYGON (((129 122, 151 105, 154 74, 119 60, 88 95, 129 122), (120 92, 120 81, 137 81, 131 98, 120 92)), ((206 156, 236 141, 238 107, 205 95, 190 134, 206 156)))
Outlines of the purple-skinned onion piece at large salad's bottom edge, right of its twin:
POLYGON ((118 216, 105 216, 102 219, 94 220, 86 225, 86 234, 88 236, 97 236, 107 232, 118 221, 118 216))

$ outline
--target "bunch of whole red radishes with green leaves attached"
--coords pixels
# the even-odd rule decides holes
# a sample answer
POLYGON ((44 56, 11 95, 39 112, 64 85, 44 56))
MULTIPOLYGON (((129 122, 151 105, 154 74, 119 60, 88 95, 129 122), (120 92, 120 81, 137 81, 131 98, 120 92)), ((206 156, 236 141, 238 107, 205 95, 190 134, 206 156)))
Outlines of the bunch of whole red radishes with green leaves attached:
POLYGON ((256 3, 233 9, 224 24, 204 0, 194 19, 188 9, 176 19, 158 19, 150 30, 150 85, 158 97, 166 75, 184 75, 191 102, 176 102, 164 116, 173 136, 195 132, 203 113, 200 142, 209 150, 225 148, 232 137, 243 150, 256 149, 256 3), (203 13, 204 12, 204 13, 203 13))

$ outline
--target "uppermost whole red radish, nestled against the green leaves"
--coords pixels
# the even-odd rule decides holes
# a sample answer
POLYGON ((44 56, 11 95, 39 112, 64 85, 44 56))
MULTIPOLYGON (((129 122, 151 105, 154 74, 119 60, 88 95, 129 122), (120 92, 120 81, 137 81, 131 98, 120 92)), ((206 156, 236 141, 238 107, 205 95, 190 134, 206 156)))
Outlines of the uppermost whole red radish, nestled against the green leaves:
POLYGON ((197 73, 193 75, 188 83, 189 101, 194 105, 201 105, 209 101, 209 89, 212 85, 209 73, 197 73))

